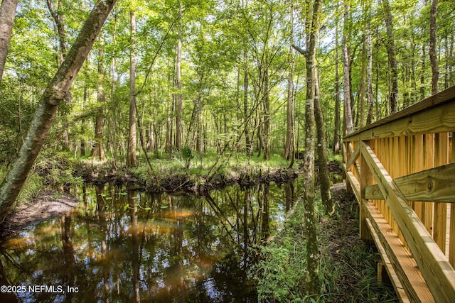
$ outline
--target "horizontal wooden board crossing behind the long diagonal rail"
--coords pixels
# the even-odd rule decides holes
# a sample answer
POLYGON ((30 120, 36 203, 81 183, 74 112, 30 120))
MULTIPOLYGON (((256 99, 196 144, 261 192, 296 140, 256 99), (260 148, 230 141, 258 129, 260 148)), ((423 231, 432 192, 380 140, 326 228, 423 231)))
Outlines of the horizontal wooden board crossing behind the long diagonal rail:
MULTIPOLYGON (((408 201, 455 203, 455 162, 393 181, 408 201)), ((365 188, 365 199, 384 199, 378 184, 365 188)))

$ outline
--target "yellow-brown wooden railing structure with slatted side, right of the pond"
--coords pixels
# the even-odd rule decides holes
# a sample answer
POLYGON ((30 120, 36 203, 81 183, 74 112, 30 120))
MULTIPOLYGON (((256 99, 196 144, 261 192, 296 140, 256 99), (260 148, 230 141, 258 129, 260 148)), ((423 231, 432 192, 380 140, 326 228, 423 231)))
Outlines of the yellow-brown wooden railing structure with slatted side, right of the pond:
POLYGON ((455 87, 343 138, 360 237, 402 302, 455 302, 455 87))

